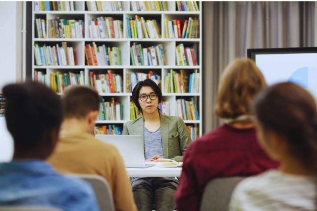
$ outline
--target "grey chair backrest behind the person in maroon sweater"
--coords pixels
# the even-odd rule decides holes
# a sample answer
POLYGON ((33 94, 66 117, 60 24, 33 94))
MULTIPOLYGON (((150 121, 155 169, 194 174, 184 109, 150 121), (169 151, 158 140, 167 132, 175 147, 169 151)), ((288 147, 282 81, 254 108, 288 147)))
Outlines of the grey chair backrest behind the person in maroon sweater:
POLYGON ((228 211, 231 194, 244 178, 234 176, 212 179, 206 185, 200 211, 228 211))

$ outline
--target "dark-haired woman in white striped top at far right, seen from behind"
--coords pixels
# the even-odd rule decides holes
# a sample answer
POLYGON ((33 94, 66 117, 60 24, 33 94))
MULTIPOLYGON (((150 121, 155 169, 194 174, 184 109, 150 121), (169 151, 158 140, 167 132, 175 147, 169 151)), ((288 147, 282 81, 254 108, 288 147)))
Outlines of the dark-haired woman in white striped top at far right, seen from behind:
POLYGON ((266 88, 254 104, 258 140, 280 165, 242 181, 230 211, 316 211, 317 107, 293 83, 266 88))

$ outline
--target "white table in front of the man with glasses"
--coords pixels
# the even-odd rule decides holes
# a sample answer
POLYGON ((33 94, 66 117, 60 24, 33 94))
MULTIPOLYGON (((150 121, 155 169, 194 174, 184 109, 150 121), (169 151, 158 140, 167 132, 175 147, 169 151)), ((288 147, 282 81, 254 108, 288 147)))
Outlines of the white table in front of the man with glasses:
POLYGON ((168 167, 161 168, 157 166, 148 168, 126 168, 128 176, 140 176, 140 177, 163 177, 163 176, 180 176, 182 172, 181 167, 168 167))

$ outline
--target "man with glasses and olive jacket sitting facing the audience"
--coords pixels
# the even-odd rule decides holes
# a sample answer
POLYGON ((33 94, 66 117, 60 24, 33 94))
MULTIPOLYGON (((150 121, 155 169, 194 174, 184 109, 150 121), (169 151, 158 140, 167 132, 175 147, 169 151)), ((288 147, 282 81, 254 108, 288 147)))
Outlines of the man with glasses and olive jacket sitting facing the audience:
MULTIPOLYGON (((150 79, 141 81, 133 88, 132 98, 142 117, 126 123, 122 134, 144 137, 147 162, 157 162, 159 158, 181 162, 191 137, 180 117, 159 113, 159 86, 150 79)), ((138 210, 152 211, 155 204, 157 211, 173 211, 178 183, 173 177, 134 177, 131 184, 138 210)))

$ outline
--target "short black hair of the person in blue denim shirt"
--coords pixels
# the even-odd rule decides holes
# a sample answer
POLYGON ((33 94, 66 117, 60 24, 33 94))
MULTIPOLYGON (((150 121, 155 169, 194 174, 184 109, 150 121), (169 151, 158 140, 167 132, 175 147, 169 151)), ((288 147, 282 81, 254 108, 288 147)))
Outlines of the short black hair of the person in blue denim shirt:
POLYGON ((6 98, 6 127, 14 139, 14 146, 33 149, 50 129, 59 131, 62 121, 58 95, 44 84, 26 82, 8 84, 2 89, 6 98))

